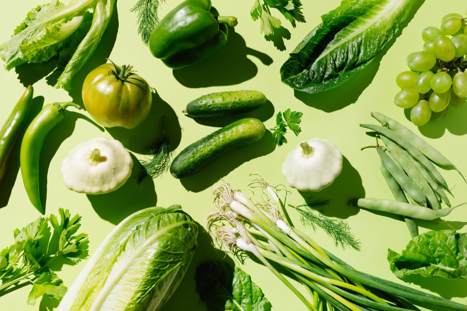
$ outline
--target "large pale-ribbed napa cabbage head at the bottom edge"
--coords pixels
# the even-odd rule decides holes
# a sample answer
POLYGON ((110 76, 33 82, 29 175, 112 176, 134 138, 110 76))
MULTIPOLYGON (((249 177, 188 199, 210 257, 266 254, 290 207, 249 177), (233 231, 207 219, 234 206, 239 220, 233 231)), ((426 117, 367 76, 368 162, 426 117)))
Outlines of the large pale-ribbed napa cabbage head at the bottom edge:
POLYGON ((149 207, 110 232, 57 311, 157 311, 180 284, 198 225, 181 210, 149 207))

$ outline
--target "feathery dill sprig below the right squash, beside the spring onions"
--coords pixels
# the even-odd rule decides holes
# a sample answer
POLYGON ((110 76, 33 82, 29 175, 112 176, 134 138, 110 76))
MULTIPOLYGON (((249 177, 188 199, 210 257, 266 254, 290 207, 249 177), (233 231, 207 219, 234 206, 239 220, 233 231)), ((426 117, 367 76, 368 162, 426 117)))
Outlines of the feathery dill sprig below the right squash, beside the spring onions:
POLYGON ((317 226, 320 227, 334 240, 336 246, 341 246, 342 248, 348 246, 359 251, 360 242, 350 231, 350 227, 347 222, 328 218, 316 210, 316 208, 323 207, 328 204, 329 200, 307 200, 305 204, 299 206, 293 206, 291 204, 288 206, 294 208, 300 213, 300 220, 303 225, 310 226, 313 230, 316 230, 317 226))

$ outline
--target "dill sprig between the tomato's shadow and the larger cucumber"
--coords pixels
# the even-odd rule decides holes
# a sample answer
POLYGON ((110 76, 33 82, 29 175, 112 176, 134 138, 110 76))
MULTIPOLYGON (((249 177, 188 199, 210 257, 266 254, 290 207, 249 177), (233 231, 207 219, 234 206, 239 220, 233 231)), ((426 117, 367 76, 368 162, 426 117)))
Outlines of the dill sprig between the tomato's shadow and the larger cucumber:
POLYGON ((138 184, 141 183, 147 175, 156 178, 169 169, 173 151, 165 135, 162 137, 160 143, 152 148, 148 154, 151 155, 152 158, 141 161, 143 169, 138 174, 138 184))

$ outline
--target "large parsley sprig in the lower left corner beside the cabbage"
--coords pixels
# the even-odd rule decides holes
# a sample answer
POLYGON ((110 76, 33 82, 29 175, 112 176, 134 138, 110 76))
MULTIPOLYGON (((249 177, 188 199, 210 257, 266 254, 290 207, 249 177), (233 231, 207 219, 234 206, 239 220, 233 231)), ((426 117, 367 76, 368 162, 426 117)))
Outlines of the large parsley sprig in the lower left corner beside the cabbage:
POLYGON ((43 295, 60 301, 67 288, 51 266, 59 258, 76 264, 88 256, 88 235, 76 234, 80 220, 79 215, 71 217, 68 209, 60 208, 58 218, 40 217, 16 229, 15 243, 0 251, 0 297, 31 284, 28 305, 34 305, 43 295))

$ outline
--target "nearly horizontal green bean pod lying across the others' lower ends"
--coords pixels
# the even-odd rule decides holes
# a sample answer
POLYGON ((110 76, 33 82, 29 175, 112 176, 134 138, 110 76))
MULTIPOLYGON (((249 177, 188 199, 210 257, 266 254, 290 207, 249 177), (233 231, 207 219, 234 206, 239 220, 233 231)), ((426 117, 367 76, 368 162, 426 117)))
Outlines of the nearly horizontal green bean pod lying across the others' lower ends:
POLYGON ((436 220, 438 218, 449 215, 449 213, 456 207, 448 207, 443 209, 430 209, 421 207, 418 205, 412 205, 403 202, 364 198, 353 200, 350 202, 351 205, 363 207, 372 210, 378 210, 382 212, 412 217, 421 220, 436 220))

